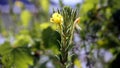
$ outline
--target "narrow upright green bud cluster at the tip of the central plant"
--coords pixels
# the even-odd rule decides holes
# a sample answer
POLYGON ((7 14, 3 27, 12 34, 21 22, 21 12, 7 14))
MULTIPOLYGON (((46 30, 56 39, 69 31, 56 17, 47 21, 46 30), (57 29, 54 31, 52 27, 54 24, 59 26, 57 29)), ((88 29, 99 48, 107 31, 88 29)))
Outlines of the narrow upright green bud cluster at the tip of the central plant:
POLYGON ((68 29, 69 26, 73 25, 73 22, 77 18, 77 10, 65 6, 63 7, 61 14, 63 15, 63 21, 64 21, 63 27, 66 27, 68 29))

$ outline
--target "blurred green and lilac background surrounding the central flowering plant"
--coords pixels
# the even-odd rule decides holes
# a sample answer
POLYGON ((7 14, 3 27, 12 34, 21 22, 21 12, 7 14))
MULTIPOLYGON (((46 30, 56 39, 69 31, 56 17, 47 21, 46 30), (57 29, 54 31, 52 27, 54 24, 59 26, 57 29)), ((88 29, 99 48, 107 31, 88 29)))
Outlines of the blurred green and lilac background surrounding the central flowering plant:
POLYGON ((77 9, 71 68, 119 68, 119 0, 0 0, 0 68, 61 68, 53 11, 77 9))

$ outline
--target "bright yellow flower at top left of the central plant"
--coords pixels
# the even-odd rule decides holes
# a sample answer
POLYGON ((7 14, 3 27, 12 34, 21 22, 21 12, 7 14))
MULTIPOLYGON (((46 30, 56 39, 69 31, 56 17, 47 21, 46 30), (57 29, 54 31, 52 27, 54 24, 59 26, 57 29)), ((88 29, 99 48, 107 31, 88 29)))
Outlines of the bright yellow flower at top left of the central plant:
POLYGON ((56 23, 56 24, 62 24, 63 17, 62 17, 61 14, 56 12, 52 15, 52 18, 50 18, 50 22, 53 22, 53 23, 56 23))

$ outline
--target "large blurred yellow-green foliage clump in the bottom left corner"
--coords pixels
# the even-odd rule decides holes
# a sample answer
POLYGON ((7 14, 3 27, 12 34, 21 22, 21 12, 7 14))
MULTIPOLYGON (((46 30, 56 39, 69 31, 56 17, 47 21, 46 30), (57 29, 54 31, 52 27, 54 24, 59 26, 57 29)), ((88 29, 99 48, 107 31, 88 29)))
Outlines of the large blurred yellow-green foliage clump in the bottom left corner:
POLYGON ((26 46, 14 48, 6 42, 0 46, 0 55, 5 68, 28 68, 33 65, 33 58, 26 46))

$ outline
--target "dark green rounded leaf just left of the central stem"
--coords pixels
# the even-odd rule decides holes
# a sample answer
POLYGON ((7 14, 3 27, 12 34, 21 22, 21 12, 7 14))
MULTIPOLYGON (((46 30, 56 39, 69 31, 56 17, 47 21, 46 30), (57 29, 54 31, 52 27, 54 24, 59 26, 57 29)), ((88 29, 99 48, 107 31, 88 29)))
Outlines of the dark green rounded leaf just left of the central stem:
POLYGON ((42 40, 45 48, 58 47, 58 41, 60 40, 60 35, 58 32, 54 31, 51 27, 48 27, 42 32, 42 40))

